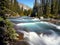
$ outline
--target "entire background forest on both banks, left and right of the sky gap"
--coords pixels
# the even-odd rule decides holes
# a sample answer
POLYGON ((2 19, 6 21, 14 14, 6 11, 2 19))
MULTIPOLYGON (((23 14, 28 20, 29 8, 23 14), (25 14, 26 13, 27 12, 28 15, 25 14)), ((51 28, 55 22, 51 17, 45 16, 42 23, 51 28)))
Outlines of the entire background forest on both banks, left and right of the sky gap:
POLYGON ((17 0, 7 0, 6 14, 10 16, 41 16, 45 18, 60 18, 60 0, 35 0, 33 9, 23 10, 23 6, 20 8, 17 0))

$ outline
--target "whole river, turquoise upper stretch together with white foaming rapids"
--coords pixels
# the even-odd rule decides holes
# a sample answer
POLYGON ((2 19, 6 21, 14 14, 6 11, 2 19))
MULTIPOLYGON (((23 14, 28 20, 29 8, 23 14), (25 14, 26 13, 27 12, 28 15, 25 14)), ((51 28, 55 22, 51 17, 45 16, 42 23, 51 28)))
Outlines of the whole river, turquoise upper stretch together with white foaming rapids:
POLYGON ((18 32, 24 34, 24 40, 27 41, 27 45, 60 45, 60 29, 57 29, 56 25, 42 22, 13 19, 13 23, 16 23, 18 32), (49 34, 49 35, 48 35, 49 34))

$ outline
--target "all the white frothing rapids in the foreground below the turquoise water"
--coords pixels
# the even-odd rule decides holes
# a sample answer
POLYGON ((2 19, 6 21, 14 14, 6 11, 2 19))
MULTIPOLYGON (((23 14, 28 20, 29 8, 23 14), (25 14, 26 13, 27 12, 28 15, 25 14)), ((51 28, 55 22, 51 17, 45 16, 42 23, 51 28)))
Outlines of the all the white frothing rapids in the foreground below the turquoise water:
POLYGON ((51 35, 24 32, 24 38, 30 45, 60 45, 60 36, 54 31, 51 35))

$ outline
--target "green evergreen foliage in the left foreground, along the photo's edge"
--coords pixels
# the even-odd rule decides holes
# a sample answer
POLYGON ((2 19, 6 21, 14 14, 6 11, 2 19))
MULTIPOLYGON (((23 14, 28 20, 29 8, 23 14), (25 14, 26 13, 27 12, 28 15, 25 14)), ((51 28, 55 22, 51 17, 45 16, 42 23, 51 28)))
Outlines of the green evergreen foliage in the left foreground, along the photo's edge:
POLYGON ((9 0, 0 0, 0 45, 8 45, 9 42, 18 39, 16 30, 6 15, 10 10, 8 2, 9 0))

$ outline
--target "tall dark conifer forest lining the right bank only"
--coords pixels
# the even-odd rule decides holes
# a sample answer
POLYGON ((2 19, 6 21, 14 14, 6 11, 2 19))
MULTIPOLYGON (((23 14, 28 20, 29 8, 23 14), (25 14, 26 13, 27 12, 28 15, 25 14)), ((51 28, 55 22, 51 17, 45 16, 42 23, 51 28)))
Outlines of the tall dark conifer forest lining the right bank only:
POLYGON ((60 0, 35 0, 31 16, 60 18, 60 0))

